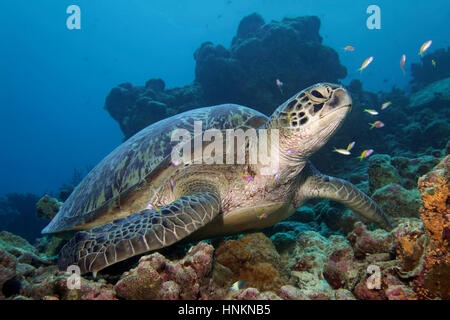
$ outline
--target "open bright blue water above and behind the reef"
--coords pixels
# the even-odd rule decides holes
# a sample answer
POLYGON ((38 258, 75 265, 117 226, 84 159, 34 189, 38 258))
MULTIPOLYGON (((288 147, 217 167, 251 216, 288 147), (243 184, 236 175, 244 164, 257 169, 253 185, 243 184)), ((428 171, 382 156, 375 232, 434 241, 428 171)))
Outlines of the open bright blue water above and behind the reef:
POLYGON ((192 82, 195 49, 205 41, 228 47, 250 13, 266 22, 317 15, 323 43, 347 67, 342 82, 358 78, 376 92, 394 84, 408 89, 401 54, 409 71, 423 42, 450 45, 448 6, 448 0, 3 0, 0 194, 54 191, 75 168, 98 163, 123 138, 103 109, 111 88, 155 77, 168 87, 192 82), (66 28, 71 4, 81 8, 81 30, 66 28), (366 27, 371 4, 381 8, 381 30, 366 27), (346 45, 356 51, 344 52, 346 45), (356 69, 369 56, 375 60, 360 75, 356 69))

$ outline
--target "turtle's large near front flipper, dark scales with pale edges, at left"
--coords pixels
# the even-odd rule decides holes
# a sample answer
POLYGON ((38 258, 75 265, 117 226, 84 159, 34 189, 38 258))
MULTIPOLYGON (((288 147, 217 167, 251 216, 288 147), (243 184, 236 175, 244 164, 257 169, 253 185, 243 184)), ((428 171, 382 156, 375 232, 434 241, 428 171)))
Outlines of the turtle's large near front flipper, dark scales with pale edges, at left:
POLYGON ((203 227, 221 211, 219 197, 199 192, 159 209, 143 210, 123 219, 80 231, 61 249, 59 268, 78 265, 81 273, 169 246, 203 227))

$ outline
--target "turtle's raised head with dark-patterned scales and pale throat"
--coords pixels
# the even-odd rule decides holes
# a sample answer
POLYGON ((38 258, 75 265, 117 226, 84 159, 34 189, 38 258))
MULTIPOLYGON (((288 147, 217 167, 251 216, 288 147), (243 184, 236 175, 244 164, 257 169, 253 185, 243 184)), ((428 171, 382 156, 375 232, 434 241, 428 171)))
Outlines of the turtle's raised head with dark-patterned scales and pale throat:
POLYGON ((305 160, 336 132, 351 107, 345 88, 318 83, 279 106, 267 128, 279 129, 280 151, 285 158, 305 160))

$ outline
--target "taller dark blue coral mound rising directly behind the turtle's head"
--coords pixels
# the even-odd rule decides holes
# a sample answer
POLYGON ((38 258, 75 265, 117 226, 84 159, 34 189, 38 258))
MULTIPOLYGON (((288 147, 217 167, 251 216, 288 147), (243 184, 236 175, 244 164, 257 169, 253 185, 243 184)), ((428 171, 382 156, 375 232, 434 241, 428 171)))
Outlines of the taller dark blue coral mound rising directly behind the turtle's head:
POLYGON ((266 24, 254 13, 242 19, 229 50, 202 44, 194 53, 195 75, 206 103, 238 103, 271 114, 298 88, 344 78, 346 69, 337 53, 322 45, 319 28, 315 16, 266 24), (284 83, 282 93, 274 85, 277 78, 284 83))

